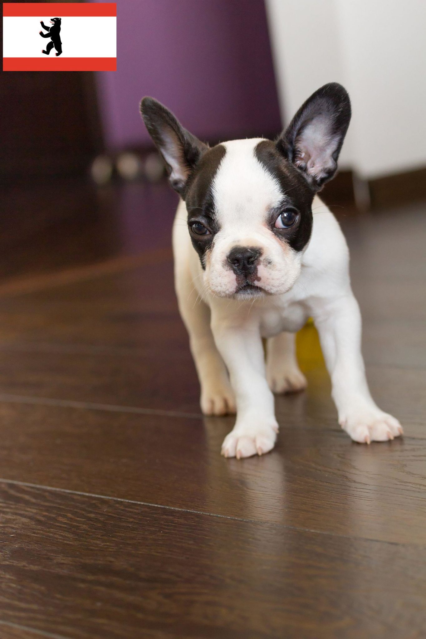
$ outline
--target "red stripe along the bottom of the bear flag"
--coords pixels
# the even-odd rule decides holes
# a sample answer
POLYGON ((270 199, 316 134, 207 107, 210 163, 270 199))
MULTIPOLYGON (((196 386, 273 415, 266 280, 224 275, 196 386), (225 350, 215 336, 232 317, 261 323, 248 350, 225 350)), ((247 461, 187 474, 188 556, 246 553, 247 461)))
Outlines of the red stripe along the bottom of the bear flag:
POLYGON ((3 58, 3 71, 116 71, 117 58, 3 58))

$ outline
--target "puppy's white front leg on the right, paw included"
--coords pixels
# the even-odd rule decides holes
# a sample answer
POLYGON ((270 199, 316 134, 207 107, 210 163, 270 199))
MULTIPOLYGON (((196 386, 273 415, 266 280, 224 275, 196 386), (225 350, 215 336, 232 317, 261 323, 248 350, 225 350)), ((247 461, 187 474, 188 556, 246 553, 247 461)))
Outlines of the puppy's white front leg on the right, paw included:
POLYGON ((360 443, 402 435, 399 421, 380 410, 370 395, 361 355, 361 315, 354 296, 349 293, 313 314, 340 426, 360 443))

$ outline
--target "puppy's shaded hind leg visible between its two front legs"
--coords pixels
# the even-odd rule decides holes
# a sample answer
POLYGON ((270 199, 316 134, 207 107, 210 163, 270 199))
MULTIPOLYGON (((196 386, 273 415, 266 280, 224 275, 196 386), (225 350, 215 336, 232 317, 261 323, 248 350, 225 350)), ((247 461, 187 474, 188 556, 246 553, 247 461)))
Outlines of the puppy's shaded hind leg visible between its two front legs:
POLYGON ((296 335, 280 333, 266 344, 266 379, 272 392, 298 392, 307 387, 296 358, 296 335))

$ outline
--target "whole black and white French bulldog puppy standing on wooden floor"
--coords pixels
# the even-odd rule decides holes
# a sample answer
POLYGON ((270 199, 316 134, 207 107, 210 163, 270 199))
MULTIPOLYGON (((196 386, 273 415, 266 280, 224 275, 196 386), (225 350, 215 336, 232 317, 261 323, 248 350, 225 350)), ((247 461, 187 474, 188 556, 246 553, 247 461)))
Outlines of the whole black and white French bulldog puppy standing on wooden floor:
POLYGON ((316 195, 337 169, 351 118, 346 90, 335 83, 318 89, 275 142, 209 148, 153 98, 142 100, 141 112, 181 196, 173 229, 176 293, 201 409, 237 413, 222 454, 243 458, 273 448, 273 392, 306 386, 294 333, 310 316, 342 428, 361 443, 401 435, 399 422, 370 396, 346 241, 316 195))

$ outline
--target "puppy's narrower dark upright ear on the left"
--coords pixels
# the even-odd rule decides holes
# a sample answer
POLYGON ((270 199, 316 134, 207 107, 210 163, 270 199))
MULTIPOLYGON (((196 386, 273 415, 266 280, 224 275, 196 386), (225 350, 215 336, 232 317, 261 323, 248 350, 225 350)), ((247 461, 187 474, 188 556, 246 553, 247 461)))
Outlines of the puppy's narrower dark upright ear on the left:
POLYGON ((141 114, 165 161, 173 189, 183 196, 186 180, 208 146, 183 128, 172 112, 154 98, 143 98, 141 114))

